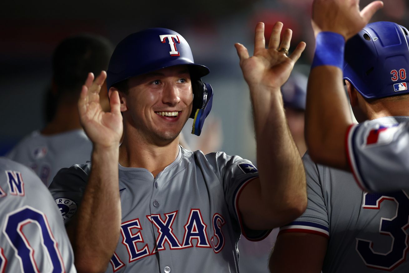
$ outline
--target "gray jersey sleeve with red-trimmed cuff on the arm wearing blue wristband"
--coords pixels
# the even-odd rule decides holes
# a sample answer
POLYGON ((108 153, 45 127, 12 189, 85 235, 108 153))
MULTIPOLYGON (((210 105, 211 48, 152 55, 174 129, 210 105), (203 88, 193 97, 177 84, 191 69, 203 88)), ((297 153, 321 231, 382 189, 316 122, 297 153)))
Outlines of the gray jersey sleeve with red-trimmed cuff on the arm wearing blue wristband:
POLYGON ((367 191, 409 188, 409 117, 394 116, 350 127, 348 161, 360 187, 367 191))

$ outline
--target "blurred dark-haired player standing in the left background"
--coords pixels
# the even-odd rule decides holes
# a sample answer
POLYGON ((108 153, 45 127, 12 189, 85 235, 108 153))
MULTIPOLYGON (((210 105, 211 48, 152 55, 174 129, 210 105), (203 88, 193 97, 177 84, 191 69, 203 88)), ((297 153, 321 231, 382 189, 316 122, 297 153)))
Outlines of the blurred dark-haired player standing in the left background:
MULTIPOLYGON (((88 73, 106 69, 111 54, 108 40, 89 34, 69 37, 54 51, 53 99, 46 106, 55 110, 45 128, 25 136, 7 155, 32 168, 47 187, 61 168, 91 158, 92 143, 81 127, 77 101, 88 73)), ((108 96, 101 96, 101 105, 109 110, 108 96)))

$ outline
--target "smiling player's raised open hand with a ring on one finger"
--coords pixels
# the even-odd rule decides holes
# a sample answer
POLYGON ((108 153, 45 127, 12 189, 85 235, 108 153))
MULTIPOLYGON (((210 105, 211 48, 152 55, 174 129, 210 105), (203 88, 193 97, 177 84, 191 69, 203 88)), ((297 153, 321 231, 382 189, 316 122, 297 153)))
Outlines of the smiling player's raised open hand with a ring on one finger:
POLYGON ((301 56, 306 47, 306 43, 301 42, 290 56, 284 52, 278 51, 281 48, 288 50, 292 30, 287 29, 283 34, 283 41, 280 44, 280 34, 283 23, 277 22, 272 30, 268 48, 265 48, 264 23, 256 25, 254 37, 254 56, 249 57, 247 48, 240 43, 236 43, 238 57, 240 58, 240 67, 243 71, 247 84, 252 87, 267 87, 269 89, 279 90, 288 80, 294 63, 301 56))

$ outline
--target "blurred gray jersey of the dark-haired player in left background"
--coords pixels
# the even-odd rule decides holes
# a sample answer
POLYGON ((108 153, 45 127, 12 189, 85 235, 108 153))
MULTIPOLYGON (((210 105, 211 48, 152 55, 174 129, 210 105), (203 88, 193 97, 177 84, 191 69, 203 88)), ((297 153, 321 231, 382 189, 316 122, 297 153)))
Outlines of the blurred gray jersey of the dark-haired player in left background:
POLYGON ((48 187, 64 167, 90 160, 92 143, 83 130, 43 135, 34 131, 20 141, 7 157, 34 170, 48 187))

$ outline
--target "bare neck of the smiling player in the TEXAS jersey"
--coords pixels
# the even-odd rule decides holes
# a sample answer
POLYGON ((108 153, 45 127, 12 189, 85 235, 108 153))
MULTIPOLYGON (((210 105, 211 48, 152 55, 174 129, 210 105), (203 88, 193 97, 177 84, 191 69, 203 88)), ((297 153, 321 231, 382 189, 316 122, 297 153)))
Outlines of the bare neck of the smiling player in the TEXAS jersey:
POLYGON ((179 136, 166 145, 158 146, 137 136, 125 133, 119 147, 119 164, 124 167, 145 168, 154 177, 169 166, 179 153, 179 136))

